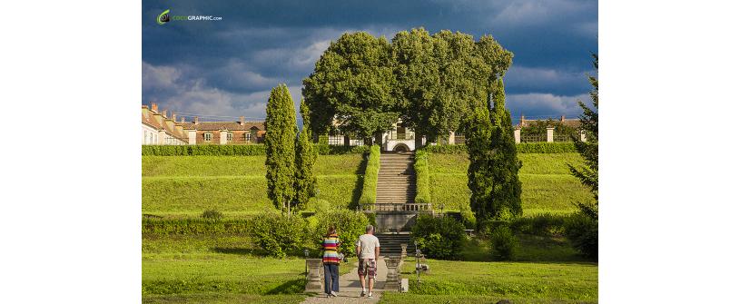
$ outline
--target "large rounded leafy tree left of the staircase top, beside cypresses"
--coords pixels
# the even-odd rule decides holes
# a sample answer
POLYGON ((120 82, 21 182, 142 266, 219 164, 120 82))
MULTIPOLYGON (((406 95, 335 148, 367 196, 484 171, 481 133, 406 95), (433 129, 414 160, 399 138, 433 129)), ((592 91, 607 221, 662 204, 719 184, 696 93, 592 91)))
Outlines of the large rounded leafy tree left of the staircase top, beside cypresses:
POLYGON ((395 77, 390 44, 365 32, 342 34, 303 80, 311 128, 324 133, 336 119, 340 132, 369 140, 399 118, 391 96, 395 77))

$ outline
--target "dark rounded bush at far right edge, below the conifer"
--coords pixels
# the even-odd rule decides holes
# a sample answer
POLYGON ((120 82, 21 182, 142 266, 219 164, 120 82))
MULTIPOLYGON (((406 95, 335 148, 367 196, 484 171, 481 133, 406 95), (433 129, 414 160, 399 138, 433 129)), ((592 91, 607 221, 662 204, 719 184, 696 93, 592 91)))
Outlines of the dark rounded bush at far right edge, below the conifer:
POLYGON ((593 260, 598 260, 598 221, 578 212, 565 222, 566 237, 580 253, 593 260))

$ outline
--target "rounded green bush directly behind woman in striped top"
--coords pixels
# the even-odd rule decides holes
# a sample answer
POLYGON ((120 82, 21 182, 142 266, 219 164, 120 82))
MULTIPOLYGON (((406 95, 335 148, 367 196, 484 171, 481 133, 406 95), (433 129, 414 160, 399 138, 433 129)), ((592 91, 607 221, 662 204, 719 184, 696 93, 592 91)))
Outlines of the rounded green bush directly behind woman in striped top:
POLYGON ((347 209, 331 209, 319 211, 313 218, 316 219, 316 226, 311 240, 318 250, 321 250, 321 241, 329 226, 334 225, 341 241, 339 251, 346 257, 356 256, 355 241, 365 233, 365 227, 370 223, 365 214, 347 209))

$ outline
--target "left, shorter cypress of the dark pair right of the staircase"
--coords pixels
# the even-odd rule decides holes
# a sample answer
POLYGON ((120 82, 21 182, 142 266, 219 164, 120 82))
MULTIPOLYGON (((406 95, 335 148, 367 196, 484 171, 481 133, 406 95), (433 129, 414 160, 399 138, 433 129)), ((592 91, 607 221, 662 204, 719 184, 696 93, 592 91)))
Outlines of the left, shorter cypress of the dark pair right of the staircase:
POLYGON ((490 218, 490 193, 493 187, 488 172, 490 155, 491 120, 488 107, 478 107, 473 111, 465 133, 468 148, 468 189, 470 190, 470 209, 475 212, 478 224, 490 218))

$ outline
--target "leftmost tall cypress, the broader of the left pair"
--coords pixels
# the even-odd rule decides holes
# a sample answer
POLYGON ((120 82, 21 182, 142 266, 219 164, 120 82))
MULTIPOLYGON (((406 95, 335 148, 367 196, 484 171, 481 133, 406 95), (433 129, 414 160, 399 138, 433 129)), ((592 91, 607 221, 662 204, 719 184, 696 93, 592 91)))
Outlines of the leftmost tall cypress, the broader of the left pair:
POLYGON ((295 197, 295 106, 288 86, 272 88, 265 116, 265 152, 267 159, 267 196, 276 208, 291 214, 295 197))

